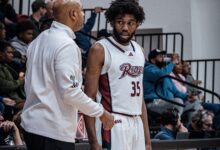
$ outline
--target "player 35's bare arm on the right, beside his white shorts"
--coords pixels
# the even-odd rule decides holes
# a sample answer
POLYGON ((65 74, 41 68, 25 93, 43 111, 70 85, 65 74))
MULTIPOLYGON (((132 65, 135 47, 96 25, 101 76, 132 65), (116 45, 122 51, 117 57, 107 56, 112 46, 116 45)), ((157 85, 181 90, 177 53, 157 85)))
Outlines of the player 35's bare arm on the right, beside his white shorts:
POLYGON ((146 109, 144 99, 143 99, 143 102, 142 102, 141 119, 142 119, 143 126, 144 126, 144 136, 145 136, 146 150, 151 150, 151 140, 150 140, 150 131, 149 131, 149 126, 148 126, 148 116, 147 116, 147 109, 146 109))

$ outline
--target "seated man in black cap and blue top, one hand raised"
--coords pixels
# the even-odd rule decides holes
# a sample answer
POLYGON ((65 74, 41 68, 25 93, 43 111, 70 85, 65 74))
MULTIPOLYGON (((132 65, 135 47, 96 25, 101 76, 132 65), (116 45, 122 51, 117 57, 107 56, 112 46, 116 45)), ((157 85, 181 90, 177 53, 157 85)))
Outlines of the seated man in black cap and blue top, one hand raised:
MULTIPOLYGON (((160 100, 154 89, 156 81, 164 75, 170 75, 174 66, 179 62, 178 55, 173 54, 171 56, 171 62, 164 66, 164 54, 165 51, 154 49, 148 55, 149 63, 146 63, 144 68, 143 79, 144 99, 147 107, 152 111, 161 113, 168 108, 175 107, 182 114, 183 107, 160 100)), ((160 95, 180 104, 184 104, 187 101, 189 104, 194 101, 191 95, 178 91, 170 78, 165 78, 159 83, 158 92, 160 95)))

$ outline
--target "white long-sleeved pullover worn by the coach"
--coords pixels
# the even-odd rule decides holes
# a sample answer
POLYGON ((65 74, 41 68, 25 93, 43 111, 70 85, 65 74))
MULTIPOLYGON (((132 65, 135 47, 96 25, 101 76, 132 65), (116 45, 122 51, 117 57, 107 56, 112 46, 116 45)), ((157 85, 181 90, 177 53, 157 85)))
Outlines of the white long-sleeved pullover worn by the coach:
POLYGON ((81 52, 74 38, 69 27, 54 21, 28 47, 25 131, 74 142, 78 110, 92 117, 103 114, 102 105, 81 90, 81 52))

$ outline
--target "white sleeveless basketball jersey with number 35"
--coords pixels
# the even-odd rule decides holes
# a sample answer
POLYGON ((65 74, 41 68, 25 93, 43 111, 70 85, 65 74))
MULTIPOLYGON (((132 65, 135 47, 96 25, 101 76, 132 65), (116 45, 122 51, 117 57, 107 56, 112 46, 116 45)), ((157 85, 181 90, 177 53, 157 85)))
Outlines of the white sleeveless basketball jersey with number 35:
POLYGON ((140 115, 145 62, 142 48, 134 41, 129 46, 120 45, 112 37, 98 43, 105 52, 99 80, 101 103, 110 112, 140 115))

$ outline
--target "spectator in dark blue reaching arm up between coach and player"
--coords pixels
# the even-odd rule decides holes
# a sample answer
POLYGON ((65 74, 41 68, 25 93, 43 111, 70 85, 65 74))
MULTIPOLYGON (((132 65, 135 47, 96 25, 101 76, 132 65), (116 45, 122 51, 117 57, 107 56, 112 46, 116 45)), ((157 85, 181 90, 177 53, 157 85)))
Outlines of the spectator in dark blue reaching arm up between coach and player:
POLYGON ((90 37, 88 37, 85 34, 90 34, 93 26, 95 25, 97 13, 100 13, 102 11, 103 10, 101 7, 95 7, 94 11, 91 12, 90 18, 88 18, 88 20, 84 24, 83 28, 75 33, 76 34, 75 41, 82 51, 82 68, 86 66, 88 51, 92 45, 90 41, 90 37))

